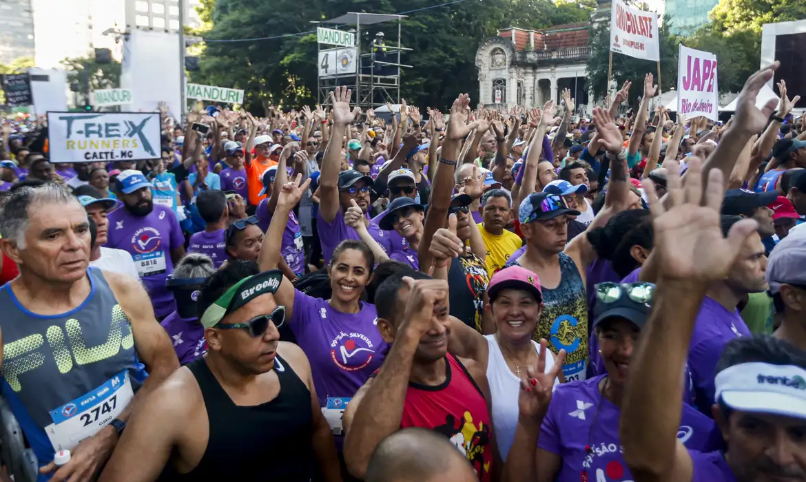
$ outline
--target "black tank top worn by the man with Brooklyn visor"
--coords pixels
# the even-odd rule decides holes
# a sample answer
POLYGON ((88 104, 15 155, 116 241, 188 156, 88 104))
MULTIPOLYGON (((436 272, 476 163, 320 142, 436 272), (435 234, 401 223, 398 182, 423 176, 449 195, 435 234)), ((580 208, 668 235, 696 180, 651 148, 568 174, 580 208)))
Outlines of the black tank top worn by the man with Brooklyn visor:
POLYGON ((235 405, 205 359, 187 367, 202 389, 210 438, 192 471, 168 468, 160 480, 310 480, 316 467, 310 391, 280 355, 274 359, 280 393, 255 406, 235 405))

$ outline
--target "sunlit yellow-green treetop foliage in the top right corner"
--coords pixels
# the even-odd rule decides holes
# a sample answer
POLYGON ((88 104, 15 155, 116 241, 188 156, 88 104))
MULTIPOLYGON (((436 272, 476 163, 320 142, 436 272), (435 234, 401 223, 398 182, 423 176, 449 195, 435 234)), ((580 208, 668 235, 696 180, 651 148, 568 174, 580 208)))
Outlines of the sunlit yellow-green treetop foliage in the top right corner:
POLYGON ((761 32, 764 23, 806 19, 806 2, 803 0, 720 0, 708 15, 713 27, 729 33, 737 31, 761 32))

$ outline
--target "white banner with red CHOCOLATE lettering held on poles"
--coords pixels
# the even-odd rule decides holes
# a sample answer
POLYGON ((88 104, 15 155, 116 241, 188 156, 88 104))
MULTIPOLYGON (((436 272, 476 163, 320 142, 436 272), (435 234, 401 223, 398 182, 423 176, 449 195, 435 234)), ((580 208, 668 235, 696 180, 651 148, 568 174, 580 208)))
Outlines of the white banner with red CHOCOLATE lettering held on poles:
POLYGON ((644 60, 660 60, 658 15, 613 0, 610 50, 644 60))

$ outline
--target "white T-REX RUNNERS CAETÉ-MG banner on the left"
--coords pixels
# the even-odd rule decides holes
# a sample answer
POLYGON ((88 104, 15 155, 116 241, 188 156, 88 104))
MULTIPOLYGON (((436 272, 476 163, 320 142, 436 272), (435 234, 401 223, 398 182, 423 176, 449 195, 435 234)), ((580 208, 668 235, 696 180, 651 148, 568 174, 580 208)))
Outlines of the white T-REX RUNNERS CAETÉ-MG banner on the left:
POLYGON ((160 114, 48 112, 51 162, 160 158, 160 114))

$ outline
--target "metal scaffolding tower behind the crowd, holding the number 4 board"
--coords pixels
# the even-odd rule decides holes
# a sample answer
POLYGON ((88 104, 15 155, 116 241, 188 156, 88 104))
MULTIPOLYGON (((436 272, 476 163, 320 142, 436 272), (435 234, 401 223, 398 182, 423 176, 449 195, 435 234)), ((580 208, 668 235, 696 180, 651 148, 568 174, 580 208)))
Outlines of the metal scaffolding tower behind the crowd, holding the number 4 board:
MULTIPOLYGON (((355 33, 355 45, 351 47, 322 48, 318 46, 318 102, 325 106, 330 104, 330 91, 345 85, 352 89, 352 102, 364 110, 383 106, 386 102, 400 103, 401 68, 411 65, 401 64, 401 52, 410 52, 411 48, 401 47, 401 20, 406 15, 365 14, 348 12, 335 19, 316 23, 320 27, 353 27, 348 33, 355 33), (397 20, 397 44, 384 44, 376 48, 372 43, 362 41, 362 31, 366 34, 368 26, 397 20), (354 49, 354 50, 353 50, 354 49), (355 53, 351 53, 355 52, 355 53), (339 69, 330 69, 328 63, 335 59, 342 67, 355 59, 355 73, 339 73, 339 69)), ((374 30, 374 29, 373 29, 374 30)))

